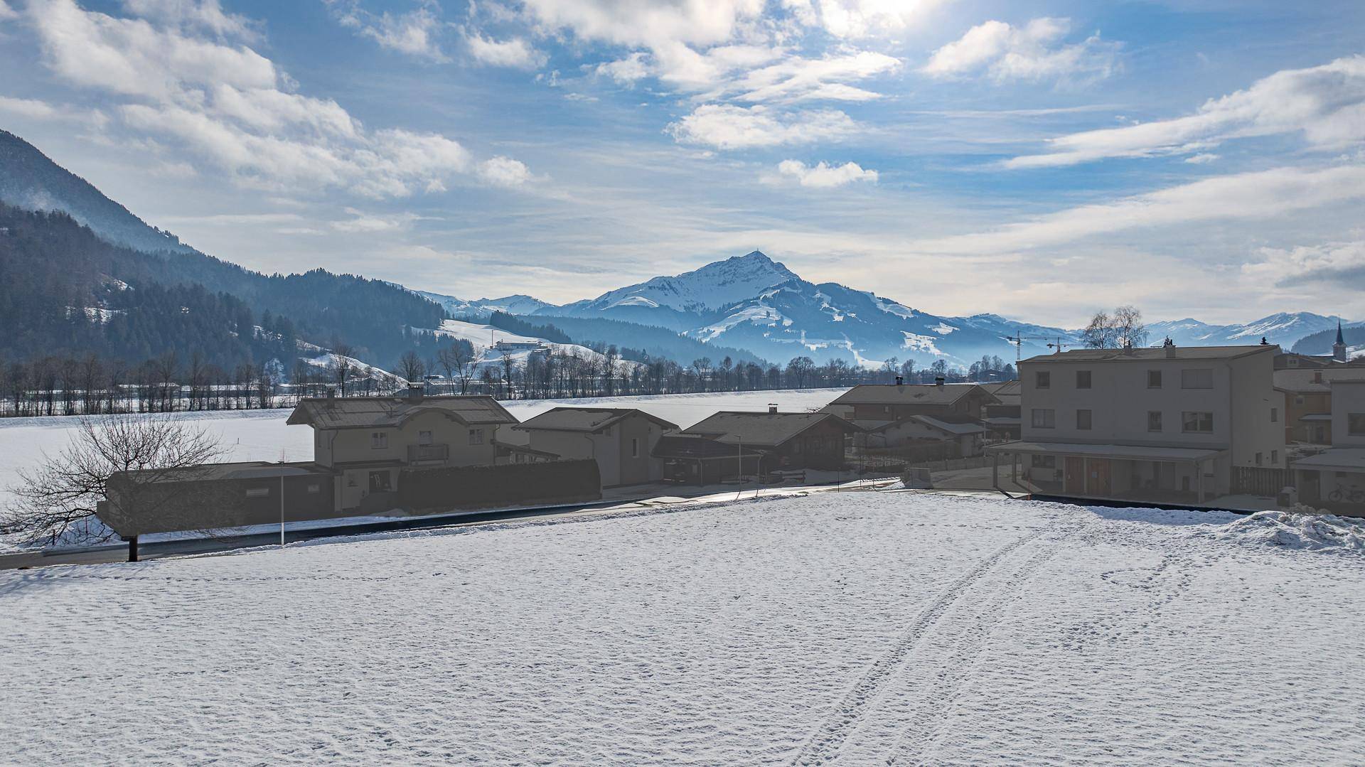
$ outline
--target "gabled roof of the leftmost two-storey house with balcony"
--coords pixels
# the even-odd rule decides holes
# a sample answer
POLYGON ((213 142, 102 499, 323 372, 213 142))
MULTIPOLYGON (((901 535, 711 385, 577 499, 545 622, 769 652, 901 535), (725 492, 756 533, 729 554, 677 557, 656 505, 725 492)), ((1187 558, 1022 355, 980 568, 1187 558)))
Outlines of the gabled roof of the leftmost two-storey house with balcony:
POLYGON ((465 424, 516 423, 516 416, 486 394, 441 397, 308 397, 289 414, 289 424, 314 429, 399 427, 415 415, 438 412, 465 424))

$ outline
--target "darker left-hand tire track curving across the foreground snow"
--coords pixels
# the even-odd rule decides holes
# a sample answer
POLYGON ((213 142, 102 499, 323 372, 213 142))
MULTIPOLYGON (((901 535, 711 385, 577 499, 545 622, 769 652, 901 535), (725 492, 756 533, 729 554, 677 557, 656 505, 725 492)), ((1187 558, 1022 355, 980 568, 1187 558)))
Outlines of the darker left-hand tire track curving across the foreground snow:
MULTIPOLYGON (((1066 535, 1074 534, 1078 527, 1070 527, 1066 535)), ((878 658, 863 677, 849 689, 848 693, 839 700, 835 707, 835 712, 830 719, 826 719, 824 725, 814 736, 811 736, 801 751, 792 760, 792 764, 824 764, 827 763, 844 745, 859 722, 863 721, 865 715, 867 706, 878 696, 883 689, 886 682, 895 676, 897 670, 905 663, 906 658, 919 647, 920 641, 936 624, 938 621, 953 607, 954 603, 968 592, 972 585, 979 580, 984 579, 991 573, 1003 560, 1006 560, 1016 550, 1043 538, 1048 532, 1054 532, 1054 527, 1044 527, 1029 535, 1024 535, 1017 540, 1006 543, 998 549, 994 554, 979 562, 975 568, 960 576, 957 580, 950 583, 930 605, 927 605, 920 614, 910 622, 910 625, 901 633, 900 639, 887 650, 880 658, 878 658)), ((1051 558, 1051 554, 1046 558, 1051 558)), ((1044 560, 1046 561, 1046 560, 1044 560)), ((1041 562, 1039 562, 1041 565, 1041 562)), ((1022 583, 1022 580, 1020 580, 1022 583)))

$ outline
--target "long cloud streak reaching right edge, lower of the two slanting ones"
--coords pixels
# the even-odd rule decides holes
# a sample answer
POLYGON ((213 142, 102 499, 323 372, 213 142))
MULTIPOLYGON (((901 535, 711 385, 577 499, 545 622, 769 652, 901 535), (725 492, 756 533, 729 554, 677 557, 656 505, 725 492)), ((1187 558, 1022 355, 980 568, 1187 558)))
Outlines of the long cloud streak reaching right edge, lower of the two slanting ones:
POLYGON ((1365 198, 1365 165, 1320 171, 1276 168, 1215 176, 1134 195, 1082 205, 994 232, 916 243, 930 254, 1003 254, 1147 227, 1209 220, 1263 220, 1365 198))

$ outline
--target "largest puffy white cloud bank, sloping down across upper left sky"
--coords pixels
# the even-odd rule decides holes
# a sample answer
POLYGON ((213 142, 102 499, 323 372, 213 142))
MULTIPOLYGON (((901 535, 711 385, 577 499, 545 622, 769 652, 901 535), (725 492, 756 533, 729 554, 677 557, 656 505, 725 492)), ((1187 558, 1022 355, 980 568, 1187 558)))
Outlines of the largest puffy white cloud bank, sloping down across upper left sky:
POLYGON ((126 128, 172 139, 242 186, 403 197, 476 171, 450 138, 367 130, 336 101, 289 93, 292 81, 244 45, 83 11, 71 0, 37 0, 30 11, 52 71, 121 98, 116 113, 126 128))

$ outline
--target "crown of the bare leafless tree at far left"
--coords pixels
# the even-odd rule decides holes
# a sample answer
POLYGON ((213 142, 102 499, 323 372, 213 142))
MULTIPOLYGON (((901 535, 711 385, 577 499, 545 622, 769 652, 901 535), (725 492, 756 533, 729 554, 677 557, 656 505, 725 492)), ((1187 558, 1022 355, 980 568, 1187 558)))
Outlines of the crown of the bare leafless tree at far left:
POLYGON ((10 487, 14 501, 0 513, 0 530, 33 542, 106 540, 111 532, 90 523, 112 475, 141 471, 143 482, 156 482, 224 453, 214 435, 169 416, 82 418, 61 453, 44 453, 40 468, 19 472, 19 482, 10 487))

